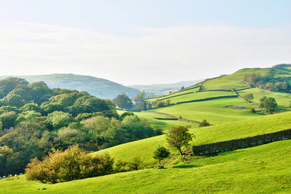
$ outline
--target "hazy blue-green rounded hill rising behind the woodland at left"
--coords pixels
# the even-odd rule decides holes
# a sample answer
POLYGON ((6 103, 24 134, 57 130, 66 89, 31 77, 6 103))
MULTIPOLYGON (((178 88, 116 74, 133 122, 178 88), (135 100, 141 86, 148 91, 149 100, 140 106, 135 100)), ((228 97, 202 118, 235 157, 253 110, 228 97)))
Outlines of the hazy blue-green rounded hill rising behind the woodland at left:
POLYGON ((6 77, 20 77, 26 79, 29 83, 44 81, 49 88, 76 89, 79 91, 88 91, 89 94, 98 98, 113 99, 118 94, 125 92, 129 98, 139 94, 139 90, 123 86, 116 82, 101 79, 88 75, 75 74, 49 74, 49 75, 4 75, 0 80, 6 77))

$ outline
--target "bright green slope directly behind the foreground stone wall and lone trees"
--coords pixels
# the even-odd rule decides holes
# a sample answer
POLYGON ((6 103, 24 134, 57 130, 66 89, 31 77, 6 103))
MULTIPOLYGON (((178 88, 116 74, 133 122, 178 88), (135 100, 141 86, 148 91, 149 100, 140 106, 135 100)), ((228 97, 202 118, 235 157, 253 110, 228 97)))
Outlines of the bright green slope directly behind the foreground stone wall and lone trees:
MULTIPOLYGON (((236 138, 249 137, 262 133, 270 133, 278 130, 291 128, 291 112, 284 112, 280 114, 268 115, 265 117, 247 119, 236 121, 228 124, 221 124, 217 126, 208 126, 202 128, 189 129, 196 138, 193 138, 191 145, 200 145, 224 140, 231 140, 236 138)), ((188 123, 182 123, 188 124, 188 123)), ((135 142, 121 144, 115 147, 104 149, 108 151, 116 160, 125 159, 131 160, 134 156, 139 156, 144 161, 145 167, 153 167, 156 161, 152 158, 153 151, 158 145, 168 146, 165 135, 150 137, 135 142)), ((94 153, 93 153, 94 154, 94 153)), ((172 151, 172 154, 178 154, 172 151)), ((176 156, 174 156, 175 158, 176 156)), ((165 160, 164 164, 168 165, 176 163, 177 160, 165 160)))

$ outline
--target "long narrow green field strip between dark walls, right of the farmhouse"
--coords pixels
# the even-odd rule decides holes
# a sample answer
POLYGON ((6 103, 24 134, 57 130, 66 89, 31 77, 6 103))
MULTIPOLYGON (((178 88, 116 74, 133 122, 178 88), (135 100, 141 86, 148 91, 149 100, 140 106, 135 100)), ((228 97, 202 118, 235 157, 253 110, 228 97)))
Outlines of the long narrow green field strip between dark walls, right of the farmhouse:
MULTIPOLYGON (((171 103, 177 103, 177 102, 184 102, 184 101, 190 101, 190 100, 199 100, 204 98, 211 98, 211 97, 217 97, 217 96, 231 96, 235 95, 233 92, 226 92, 226 91, 209 91, 209 92, 194 92, 191 94, 185 94, 182 96, 176 96, 172 98, 168 98, 171 100, 171 103)), ((165 99, 164 101, 166 101, 165 99)), ((161 101, 163 101, 163 98, 161 98, 161 101)))

